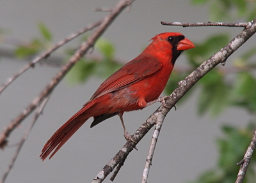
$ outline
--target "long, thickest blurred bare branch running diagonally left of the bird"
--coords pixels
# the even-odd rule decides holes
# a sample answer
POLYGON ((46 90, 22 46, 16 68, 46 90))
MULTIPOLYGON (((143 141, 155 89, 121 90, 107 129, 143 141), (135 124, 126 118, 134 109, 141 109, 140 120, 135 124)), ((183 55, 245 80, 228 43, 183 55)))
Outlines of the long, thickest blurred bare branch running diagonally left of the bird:
POLYGON ((37 96, 29 106, 25 108, 25 110, 20 113, 8 126, 4 129, 4 131, 0 134, 0 147, 3 149, 7 144, 7 138, 12 133, 13 129, 15 129, 28 115, 35 110, 36 106, 40 105, 44 98, 49 96, 54 88, 60 83, 63 77, 67 74, 67 72, 76 64, 81 57, 83 57, 88 50, 93 47, 95 41, 106 31, 108 26, 115 20, 115 18, 124 10, 125 7, 129 6, 135 0, 121 0, 116 6, 113 8, 108 15, 106 15, 102 23, 100 24, 95 31, 93 31, 92 35, 86 40, 86 42, 82 43, 81 47, 76 51, 76 53, 71 57, 71 59, 65 64, 61 70, 57 73, 56 77, 52 78, 51 82, 45 87, 45 89, 37 96))

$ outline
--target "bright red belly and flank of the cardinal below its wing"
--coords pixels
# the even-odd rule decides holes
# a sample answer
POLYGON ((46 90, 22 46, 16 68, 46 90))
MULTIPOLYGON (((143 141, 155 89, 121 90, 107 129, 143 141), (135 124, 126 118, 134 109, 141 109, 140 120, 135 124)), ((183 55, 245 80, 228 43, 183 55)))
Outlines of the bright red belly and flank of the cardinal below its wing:
POLYGON ((115 113, 144 108, 145 106, 139 105, 140 101, 145 101, 144 103, 147 104, 157 99, 163 92, 170 77, 170 70, 167 71, 168 73, 155 73, 123 89, 101 96, 97 99, 101 106, 99 110, 102 113, 115 113))

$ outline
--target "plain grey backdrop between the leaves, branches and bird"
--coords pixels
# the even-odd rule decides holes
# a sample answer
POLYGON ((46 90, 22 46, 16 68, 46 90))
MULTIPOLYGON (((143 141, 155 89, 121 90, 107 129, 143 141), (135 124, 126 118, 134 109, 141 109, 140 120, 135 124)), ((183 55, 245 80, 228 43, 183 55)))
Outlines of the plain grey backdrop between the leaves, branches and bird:
MULTIPOLYGON (((106 15, 94 12, 94 8, 108 8, 118 1, 0 1, 0 26, 6 28, 8 36, 28 41, 39 36, 36 25, 44 22, 52 34, 54 42, 76 32, 81 27, 99 20, 106 15)), ((180 32, 191 41, 200 41, 209 34, 227 31, 231 36, 241 31, 239 28, 182 28, 161 26, 160 21, 207 22, 207 5, 191 6, 189 1, 135 1, 131 12, 124 11, 104 33, 115 44, 116 58, 127 62, 140 54, 148 45, 148 40, 163 32, 180 32)), ((255 39, 254 39, 255 41, 255 39)), ((72 41, 70 45, 76 45, 72 41)), ((243 49, 253 44, 253 38, 243 49)), ((10 45, 0 45, 1 50, 12 50, 10 45)), ((66 47, 67 48, 67 47, 66 47)), ((236 53, 237 54, 237 53, 236 53)), ((227 62, 231 66, 234 54, 227 62)), ((61 55, 59 50, 54 55, 61 55)), ((211 55, 209 55, 211 56, 211 55)), ((26 62, 1 57, 0 83, 16 73, 26 62)), ((186 57, 180 57, 176 67, 186 66, 186 57)), ((0 129, 22 112, 58 69, 36 66, 16 80, 0 96, 0 129)), ((90 129, 90 119, 52 157, 42 162, 40 151, 45 142, 64 122, 76 113, 92 96, 103 80, 92 78, 86 84, 68 85, 63 80, 55 89, 44 114, 36 122, 33 131, 24 144, 15 166, 6 182, 90 182, 106 163, 125 143, 122 125, 118 117, 102 122, 90 129)), ((168 113, 154 154, 148 182, 186 182, 195 180, 200 172, 216 165, 216 136, 221 136, 223 123, 243 126, 250 116, 243 110, 232 108, 220 117, 209 115, 198 118, 196 105, 198 92, 186 103, 178 105, 177 111, 168 113)), ((134 131, 156 110, 159 104, 142 111, 124 114, 129 133, 134 131)), ((31 117, 16 129, 10 138, 15 145, 28 128, 31 117)), ((152 130, 137 145, 138 151, 131 152, 115 182, 140 182, 152 130)), ((7 147, 0 151, 0 176, 6 170, 15 151, 7 147)), ((111 182, 110 176, 105 182, 111 182)))

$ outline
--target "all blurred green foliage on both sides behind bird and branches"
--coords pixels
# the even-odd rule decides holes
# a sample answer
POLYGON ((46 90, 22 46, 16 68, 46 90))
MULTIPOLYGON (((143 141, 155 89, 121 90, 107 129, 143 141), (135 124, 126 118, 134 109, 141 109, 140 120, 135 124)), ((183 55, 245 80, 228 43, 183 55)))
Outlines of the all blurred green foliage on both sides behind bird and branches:
MULTIPOLYGON (((251 21, 256 17, 256 1, 191 0, 191 3, 194 5, 209 5, 209 20, 214 22, 225 20, 232 22, 237 22, 237 20, 239 22, 241 20, 251 21)), ((35 38, 26 45, 19 45, 16 49, 17 57, 28 57, 49 47, 52 41, 51 31, 43 23, 38 24, 38 29, 40 38, 35 38)), ((81 41, 85 41, 86 38, 85 36, 81 41)), ((225 46, 228 41, 230 41, 228 33, 222 33, 212 35, 201 43, 195 43, 195 49, 187 50, 184 53, 188 57, 189 70, 179 71, 179 69, 175 68, 165 92, 172 93, 177 87, 177 82, 183 80, 202 62, 225 46)), ((115 47, 111 42, 101 38, 93 49, 97 54, 88 54, 78 61, 67 75, 68 82, 77 84, 85 82, 92 76, 106 78, 122 66, 120 62, 115 60, 115 47)), ((67 50, 67 60, 74 52, 74 48, 67 50)), ((216 168, 202 173, 195 181, 197 183, 228 183, 236 180, 239 170, 239 166, 236 166, 236 163, 243 158, 256 126, 255 55, 256 47, 248 48, 241 55, 236 54, 234 61, 228 61, 229 68, 232 64, 231 71, 218 66, 196 84, 196 87, 200 89, 198 96, 198 113, 200 115, 210 112, 212 117, 216 117, 225 108, 232 106, 246 110, 254 119, 248 122, 249 125, 243 129, 227 125, 222 127, 225 136, 218 138, 216 141, 219 149, 216 168), (227 78, 230 73, 232 77, 227 78)), ((182 98, 183 103, 191 96, 194 90, 195 87, 182 98)), ((253 170, 255 160, 256 158, 253 156, 244 182, 255 182, 256 176, 255 170, 253 170)))

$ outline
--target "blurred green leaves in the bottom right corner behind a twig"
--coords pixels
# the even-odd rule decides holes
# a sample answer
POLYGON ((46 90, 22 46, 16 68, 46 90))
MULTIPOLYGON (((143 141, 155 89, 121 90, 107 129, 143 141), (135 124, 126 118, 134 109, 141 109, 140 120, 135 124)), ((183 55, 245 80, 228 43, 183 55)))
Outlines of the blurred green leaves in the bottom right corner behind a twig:
MULTIPOLYGON (((221 130, 224 137, 216 140, 219 150, 216 168, 205 171, 196 181, 189 183, 234 183, 239 171, 239 166, 236 166, 236 163, 243 159, 255 128, 255 121, 242 129, 227 125, 222 126, 221 130)), ((253 156, 244 183, 255 182, 255 162, 256 157, 253 156)))

